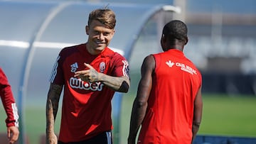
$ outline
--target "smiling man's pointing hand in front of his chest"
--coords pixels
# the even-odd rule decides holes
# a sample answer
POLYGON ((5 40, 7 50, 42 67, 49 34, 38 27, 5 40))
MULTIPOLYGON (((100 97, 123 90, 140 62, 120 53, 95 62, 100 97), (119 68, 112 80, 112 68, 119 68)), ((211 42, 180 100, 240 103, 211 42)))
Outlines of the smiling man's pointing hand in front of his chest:
POLYGON ((88 67, 88 70, 81 70, 75 72, 74 77, 78 77, 85 82, 98 82, 99 72, 97 72, 91 65, 85 63, 85 67, 88 67))

